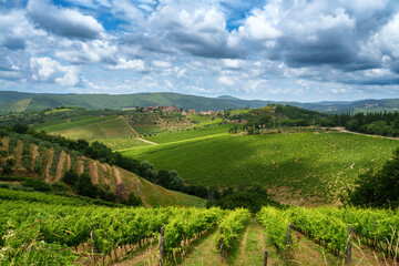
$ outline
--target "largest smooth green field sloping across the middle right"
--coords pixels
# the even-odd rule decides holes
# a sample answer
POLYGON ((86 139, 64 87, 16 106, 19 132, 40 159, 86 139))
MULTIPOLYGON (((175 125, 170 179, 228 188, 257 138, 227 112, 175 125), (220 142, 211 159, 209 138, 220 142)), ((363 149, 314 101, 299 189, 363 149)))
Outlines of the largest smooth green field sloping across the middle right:
POLYGON ((123 152, 157 168, 174 168, 188 183, 216 186, 263 184, 306 197, 332 198, 359 173, 378 168, 397 140, 348 133, 294 133, 197 137, 123 152))

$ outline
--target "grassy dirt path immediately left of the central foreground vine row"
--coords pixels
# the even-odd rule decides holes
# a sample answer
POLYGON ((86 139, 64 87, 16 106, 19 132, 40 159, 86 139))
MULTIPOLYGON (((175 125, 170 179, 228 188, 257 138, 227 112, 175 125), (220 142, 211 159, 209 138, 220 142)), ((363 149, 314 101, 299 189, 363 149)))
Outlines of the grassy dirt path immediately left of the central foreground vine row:
POLYGON ((188 253, 181 265, 185 266, 217 266, 226 265, 221 262, 218 250, 215 248, 214 238, 217 229, 212 232, 208 236, 203 236, 194 245, 194 250, 188 253))

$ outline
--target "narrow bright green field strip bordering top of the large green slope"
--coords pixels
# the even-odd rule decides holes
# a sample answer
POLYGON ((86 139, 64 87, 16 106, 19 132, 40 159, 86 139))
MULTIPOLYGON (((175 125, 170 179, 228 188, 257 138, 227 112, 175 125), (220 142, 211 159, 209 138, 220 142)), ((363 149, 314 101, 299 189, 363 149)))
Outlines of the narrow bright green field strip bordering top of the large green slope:
POLYGON ((156 143, 168 143, 176 141, 184 141, 190 139, 195 139, 200 136, 214 135, 221 133, 228 133, 228 129, 235 126, 236 124, 221 124, 221 125, 209 125, 192 129, 185 129, 172 132, 163 132, 153 136, 147 136, 145 140, 156 142, 156 143))

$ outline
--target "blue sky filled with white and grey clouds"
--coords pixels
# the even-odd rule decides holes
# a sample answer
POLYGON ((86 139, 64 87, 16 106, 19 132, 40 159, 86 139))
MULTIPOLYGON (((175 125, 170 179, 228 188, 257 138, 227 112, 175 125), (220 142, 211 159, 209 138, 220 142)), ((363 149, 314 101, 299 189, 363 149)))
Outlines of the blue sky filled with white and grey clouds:
POLYGON ((399 98, 397 0, 0 0, 0 91, 399 98))

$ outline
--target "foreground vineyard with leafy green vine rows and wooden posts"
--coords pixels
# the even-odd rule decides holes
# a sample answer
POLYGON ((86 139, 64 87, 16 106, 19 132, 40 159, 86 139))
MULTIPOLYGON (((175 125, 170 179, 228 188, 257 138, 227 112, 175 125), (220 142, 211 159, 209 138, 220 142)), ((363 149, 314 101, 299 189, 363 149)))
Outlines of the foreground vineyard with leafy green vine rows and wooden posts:
POLYGON ((265 250, 267 265, 397 259, 397 211, 263 207, 254 219, 244 208, 106 207, 40 194, 1 190, 0 265, 259 265, 265 250), (317 257, 303 257, 310 252, 317 257))

